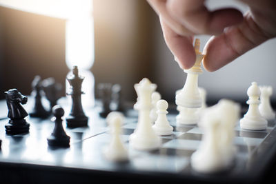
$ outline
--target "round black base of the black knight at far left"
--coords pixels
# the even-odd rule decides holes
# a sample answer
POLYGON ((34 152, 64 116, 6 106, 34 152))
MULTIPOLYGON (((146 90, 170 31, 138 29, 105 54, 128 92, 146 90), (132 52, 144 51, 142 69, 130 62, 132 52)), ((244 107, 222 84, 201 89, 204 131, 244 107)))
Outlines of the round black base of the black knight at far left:
POLYGON ((25 119, 10 119, 10 121, 5 125, 5 128, 6 134, 24 134, 29 132, 30 124, 27 123, 25 119))

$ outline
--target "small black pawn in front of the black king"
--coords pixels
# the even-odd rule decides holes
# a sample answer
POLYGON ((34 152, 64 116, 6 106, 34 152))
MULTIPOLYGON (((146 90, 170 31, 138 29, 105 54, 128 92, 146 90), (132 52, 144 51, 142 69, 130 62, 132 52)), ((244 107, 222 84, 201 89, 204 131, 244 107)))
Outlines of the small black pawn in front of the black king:
POLYGON ((55 128, 47 139, 48 145, 51 147, 70 147, 70 136, 66 134, 62 126, 63 108, 60 105, 55 105, 52 108, 52 114, 54 115, 55 128))

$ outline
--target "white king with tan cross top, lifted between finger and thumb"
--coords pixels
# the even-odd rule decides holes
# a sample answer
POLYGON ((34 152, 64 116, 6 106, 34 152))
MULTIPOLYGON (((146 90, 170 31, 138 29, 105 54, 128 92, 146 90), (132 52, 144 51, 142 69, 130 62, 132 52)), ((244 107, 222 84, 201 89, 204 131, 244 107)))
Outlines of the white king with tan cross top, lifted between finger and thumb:
POLYGON ((204 55, 199 52, 200 41, 195 40, 195 65, 189 70, 184 70, 187 73, 184 88, 177 94, 175 103, 184 108, 201 108, 202 99, 199 95, 198 89, 198 75, 203 71, 201 70, 201 60, 204 55))

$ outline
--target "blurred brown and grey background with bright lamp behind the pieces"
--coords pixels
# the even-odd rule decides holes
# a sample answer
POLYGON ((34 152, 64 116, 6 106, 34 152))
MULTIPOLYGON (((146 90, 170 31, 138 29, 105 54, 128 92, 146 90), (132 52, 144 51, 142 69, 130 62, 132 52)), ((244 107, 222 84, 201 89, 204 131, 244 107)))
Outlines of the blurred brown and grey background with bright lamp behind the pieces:
MULTIPOLYGON (((247 10, 238 1, 206 1, 206 6, 247 10)), ((210 37, 197 38, 202 51, 210 37)), ((245 104, 253 81, 276 90, 275 49, 276 39, 271 39, 217 72, 204 70, 199 86, 206 89, 208 103, 227 98, 245 104)), ((119 83, 122 98, 135 101, 133 85, 148 77, 162 99, 174 103, 175 91, 186 80, 164 42, 157 14, 146 1, 0 0, 1 99, 10 88, 30 94, 35 75, 54 77, 65 89, 74 64, 80 65, 92 86, 84 91, 92 96, 96 92, 96 98, 98 83, 119 83)), ((276 92, 273 106, 275 101, 276 92)))

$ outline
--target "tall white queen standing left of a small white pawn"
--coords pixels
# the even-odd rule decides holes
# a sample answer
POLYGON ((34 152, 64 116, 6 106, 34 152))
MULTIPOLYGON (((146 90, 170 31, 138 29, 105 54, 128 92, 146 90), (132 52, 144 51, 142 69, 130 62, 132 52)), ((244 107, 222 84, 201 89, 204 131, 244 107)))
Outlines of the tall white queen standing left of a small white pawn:
POLYGON ((160 147, 161 138, 152 129, 150 110, 152 108, 151 95, 157 86, 144 78, 134 87, 138 96, 135 109, 139 110, 139 114, 137 127, 130 135, 129 143, 137 150, 155 150, 160 147))

